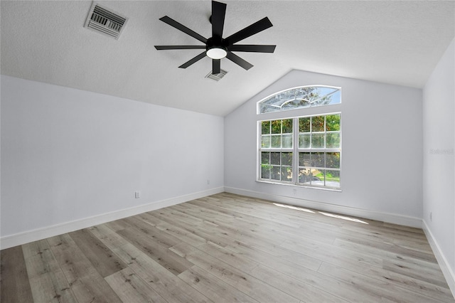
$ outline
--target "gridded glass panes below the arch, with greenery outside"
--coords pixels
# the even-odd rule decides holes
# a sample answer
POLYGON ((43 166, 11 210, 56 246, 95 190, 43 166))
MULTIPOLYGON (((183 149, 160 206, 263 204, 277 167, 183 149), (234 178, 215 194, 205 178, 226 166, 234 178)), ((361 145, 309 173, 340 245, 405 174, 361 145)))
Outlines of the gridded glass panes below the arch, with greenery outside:
MULTIPOLYGON (((293 152, 283 149, 291 149, 294 145, 293 123, 294 119, 261 122, 262 148, 282 149, 282 151, 262 151, 262 179, 292 181, 294 155, 293 152)), ((323 149, 340 147, 341 115, 300 117, 298 123, 299 147, 322 149, 299 152, 299 182, 325 180, 339 183, 340 152, 323 149)))

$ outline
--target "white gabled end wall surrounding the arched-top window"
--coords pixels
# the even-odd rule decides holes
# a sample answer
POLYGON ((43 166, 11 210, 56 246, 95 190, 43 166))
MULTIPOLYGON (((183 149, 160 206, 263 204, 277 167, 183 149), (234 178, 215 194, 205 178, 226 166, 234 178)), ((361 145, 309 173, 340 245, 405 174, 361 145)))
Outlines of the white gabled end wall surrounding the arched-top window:
POLYGON ((225 191, 420 227, 422 90, 292 70, 225 117, 225 191), (342 87, 341 192, 255 181, 256 102, 300 85, 342 87))

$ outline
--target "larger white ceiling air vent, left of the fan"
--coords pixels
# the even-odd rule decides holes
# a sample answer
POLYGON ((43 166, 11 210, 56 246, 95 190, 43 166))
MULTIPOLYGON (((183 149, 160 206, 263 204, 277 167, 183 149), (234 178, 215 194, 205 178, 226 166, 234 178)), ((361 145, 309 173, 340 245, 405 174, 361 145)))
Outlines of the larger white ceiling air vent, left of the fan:
POLYGON ((117 40, 127 20, 128 18, 94 3, 88 12, 85 27, 117 40))

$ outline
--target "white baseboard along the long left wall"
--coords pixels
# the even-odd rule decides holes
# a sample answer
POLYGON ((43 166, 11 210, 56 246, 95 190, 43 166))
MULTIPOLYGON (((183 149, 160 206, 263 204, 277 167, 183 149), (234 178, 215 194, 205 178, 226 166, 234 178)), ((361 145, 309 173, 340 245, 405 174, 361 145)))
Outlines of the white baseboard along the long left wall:
POLYGON ((196 193, 190 193, 188 195, 168 198, 161 201, 154 201, 152 203, 147 203, 141 206, 125 208, 119 211, 112 211, 111 213, 103 213, 101 215, 93 216, 90 218, 73 220, 70 222, 46 226, 44 228, 38 228, 35 230, 27 230, 23 233, 16 233, 14 235, 6 235, 0 238, 0 249, 3 250, 5 248, 12 248, 17 245, 23 245, 25 243, 42 240, 45 238, 53 237, 55 235, 61 235, 63 233, 70 233, 75 230, 88 228, 93 225, 107 223, 121 218, 127 218, 129 216, 138 215, 139 213, 145 213, 147 211, 155 211, 159 208, 165 208, 197 198, 203 198, 205 196, 214 195, 215 193, 222 193, 223 191, 223 187, 213 188, 209 189, 208 191, 199 191, 196 193))

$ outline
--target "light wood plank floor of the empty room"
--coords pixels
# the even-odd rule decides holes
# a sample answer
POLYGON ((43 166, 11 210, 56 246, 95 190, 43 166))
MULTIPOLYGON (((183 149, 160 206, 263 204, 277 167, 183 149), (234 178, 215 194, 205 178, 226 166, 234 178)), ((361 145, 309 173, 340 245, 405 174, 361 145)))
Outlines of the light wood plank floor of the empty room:
POLYGON ((455 302, 422 230, 230 193, 1 250, 1 302, 455 302))

